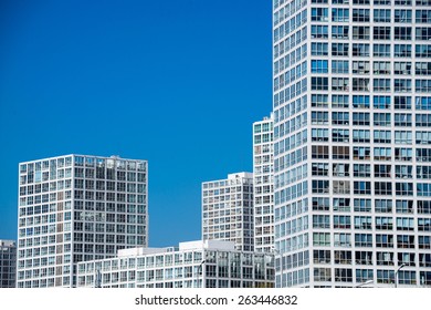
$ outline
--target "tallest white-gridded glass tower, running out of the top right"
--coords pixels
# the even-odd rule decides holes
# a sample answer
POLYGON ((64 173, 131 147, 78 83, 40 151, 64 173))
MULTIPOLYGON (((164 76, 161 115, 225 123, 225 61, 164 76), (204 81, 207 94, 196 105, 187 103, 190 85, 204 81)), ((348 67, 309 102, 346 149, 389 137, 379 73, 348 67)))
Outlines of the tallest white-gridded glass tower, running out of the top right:
POLYGON ((273 1, 277 287, 431 285, 430 6, 273 1))

